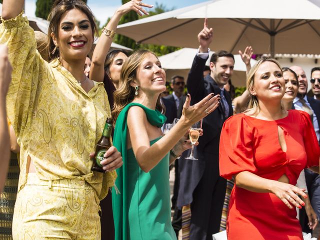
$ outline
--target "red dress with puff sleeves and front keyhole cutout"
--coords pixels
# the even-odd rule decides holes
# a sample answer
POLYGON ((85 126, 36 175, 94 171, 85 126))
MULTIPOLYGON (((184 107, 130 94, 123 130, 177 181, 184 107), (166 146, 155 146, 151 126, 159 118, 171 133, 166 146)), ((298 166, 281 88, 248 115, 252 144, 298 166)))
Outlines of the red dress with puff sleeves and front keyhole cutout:
MULTIPOLYGON (((241 171, 277 180, 285 174, 296 184, 306 166, 319 165, 320 150, 309 115, 289 110, 284 118, 268 121, 243 113, 228 118, 219 148, 220 175, 230 179, 241 171), (278 140, 283 129, 286 152, 278 140)), ((234 185, 227 216, 228 240, 303 239, 295 208, 273 193, 258 193, 234 185)))

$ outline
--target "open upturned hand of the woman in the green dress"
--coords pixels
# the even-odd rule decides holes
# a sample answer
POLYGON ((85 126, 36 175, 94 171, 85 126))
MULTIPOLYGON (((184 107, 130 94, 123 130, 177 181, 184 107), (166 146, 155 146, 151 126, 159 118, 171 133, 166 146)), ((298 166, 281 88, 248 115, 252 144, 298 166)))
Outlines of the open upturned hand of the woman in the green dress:
POLYGON ((185 118, 189 125, 199 121, 203 117, 211 113, 220 103, 220 95, 213 96, 213 93, 208 94, 198 103, 190 106, 191 96, 187 94, 182 109, 182 117, 185 118))

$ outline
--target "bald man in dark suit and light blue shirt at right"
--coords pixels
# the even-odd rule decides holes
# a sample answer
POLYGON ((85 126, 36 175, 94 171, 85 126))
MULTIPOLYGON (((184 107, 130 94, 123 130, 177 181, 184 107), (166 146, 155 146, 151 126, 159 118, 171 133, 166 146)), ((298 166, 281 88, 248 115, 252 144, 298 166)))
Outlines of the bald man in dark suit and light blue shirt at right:
MULTIPOLYGON (((311 121, 313 123, 314 131, 316 137, 319 141, 320 133, 320 101, 316 100, 310 96, 306 95, 308 88, 308 81, 306 78, 306 74, 302 67, 300 66, 291 66, 290 67, 298 76, 299 88, 298 94, 293 100, 293 105, 295 109, 306 111, 310 114, 311 121)), ((311 70, 311 78, 316 73, 317 69, 312 68, 311 70), (313 74, 312 74, 313 73, 313 74)), ((311 205, 314 208, 314 213, 312 207, 304 207, 300 210, 300 223, 302 226, 302 230, 304 232, 310 232, 310 229, 307 225, 307 222, 314 221, 317 217, 320 217, 320 178, 319 174, 315 172, 311 172, 308 169, 304 170, 305 174, 305 182, 307 186, 307 193, 309 194, 309 198, 303 199, 304 201, 310 201, 311 205), (306 216, 305 217, 305 213, 306 216)), ((310 202, 306 202, 306 206, 309 205, 310 202)))

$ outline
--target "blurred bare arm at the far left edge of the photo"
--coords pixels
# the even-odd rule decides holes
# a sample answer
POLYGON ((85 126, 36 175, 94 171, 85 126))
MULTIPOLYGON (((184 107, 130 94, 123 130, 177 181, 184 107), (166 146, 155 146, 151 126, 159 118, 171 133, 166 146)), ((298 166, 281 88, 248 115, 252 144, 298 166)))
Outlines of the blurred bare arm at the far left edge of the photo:
POLYGON ((11 81, 11 65, 8 60, 8 49, 0 45, 0 191, 3 188, 10 158, 9 131, 5 111, 6 93, 11 81))

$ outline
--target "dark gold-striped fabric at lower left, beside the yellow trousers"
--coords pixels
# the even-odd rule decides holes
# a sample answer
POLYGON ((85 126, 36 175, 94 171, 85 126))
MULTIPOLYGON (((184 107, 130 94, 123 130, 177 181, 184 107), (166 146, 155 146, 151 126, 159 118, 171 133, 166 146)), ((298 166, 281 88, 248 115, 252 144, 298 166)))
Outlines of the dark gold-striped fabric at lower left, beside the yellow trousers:
POLYGON ((17 155, 11 152, 9 169, 3 191, 0 192, 0 240, 12 239, 12 216, 17 193, 19 165, 17 155))

